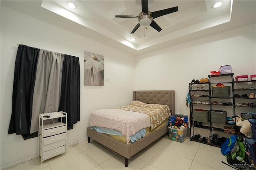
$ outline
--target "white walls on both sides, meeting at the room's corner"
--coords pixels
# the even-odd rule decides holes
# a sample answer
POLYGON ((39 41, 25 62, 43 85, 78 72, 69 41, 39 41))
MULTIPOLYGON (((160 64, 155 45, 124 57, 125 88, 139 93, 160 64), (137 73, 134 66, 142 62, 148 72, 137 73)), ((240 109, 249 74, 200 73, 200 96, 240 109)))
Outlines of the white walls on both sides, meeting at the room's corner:
POLYGON ((90 112, 126 105, 133 90, 175 90, 176 113, 187 114, 186 95, 192 79, 207 77, 221 65, 234 75, 256 74, 255 24, 133 56, 1 7, 1 168, 37 154, 38 138, 7 134, 12 108, 14 62, 19 44, 80 57, 81 121, 68 130, 68 143, 86 137, 90 112), (83 51, 104 55, 104 86, 83 85, 83 51), (135 76, 135 78, 134 78, 135 76), (135 87, 135 88, 134 88, 135 87))

